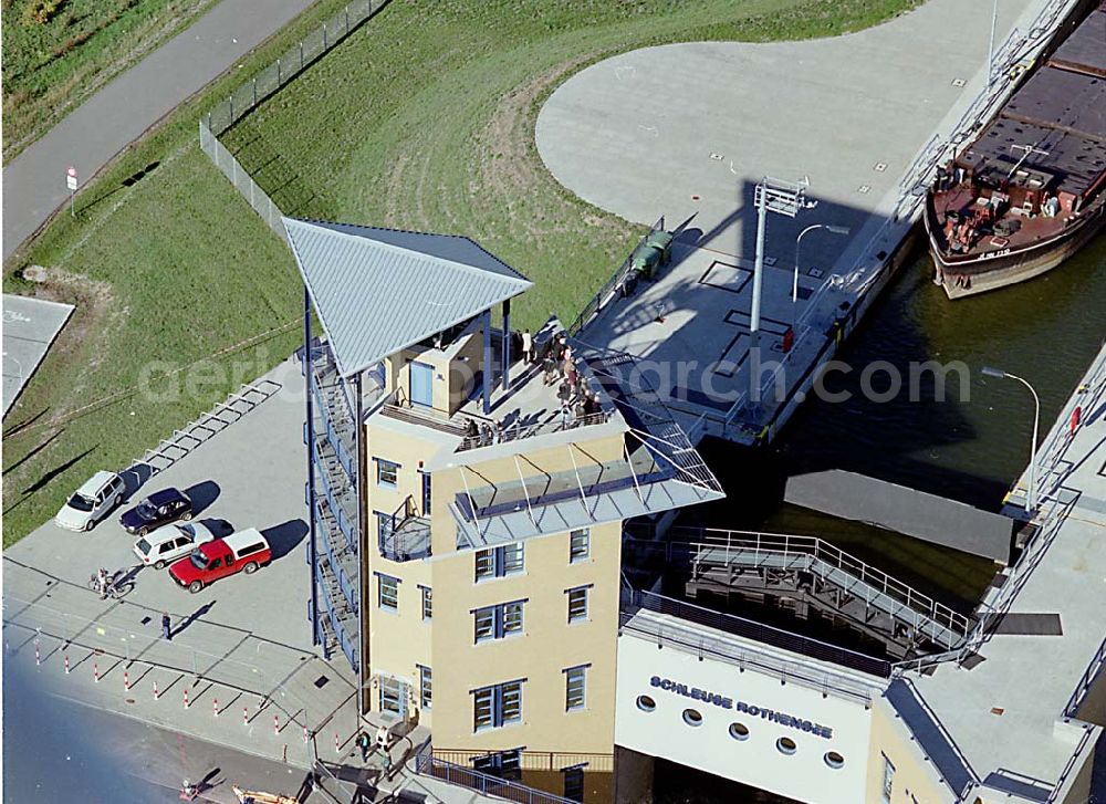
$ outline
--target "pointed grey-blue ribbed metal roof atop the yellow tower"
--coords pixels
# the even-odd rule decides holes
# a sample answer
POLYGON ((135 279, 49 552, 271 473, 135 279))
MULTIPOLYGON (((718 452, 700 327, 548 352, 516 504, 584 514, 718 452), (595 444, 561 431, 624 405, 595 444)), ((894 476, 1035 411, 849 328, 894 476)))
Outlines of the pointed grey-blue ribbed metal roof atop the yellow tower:
POLYGON ((532 284, 468 238, 283 221, 343 377, 532 284))

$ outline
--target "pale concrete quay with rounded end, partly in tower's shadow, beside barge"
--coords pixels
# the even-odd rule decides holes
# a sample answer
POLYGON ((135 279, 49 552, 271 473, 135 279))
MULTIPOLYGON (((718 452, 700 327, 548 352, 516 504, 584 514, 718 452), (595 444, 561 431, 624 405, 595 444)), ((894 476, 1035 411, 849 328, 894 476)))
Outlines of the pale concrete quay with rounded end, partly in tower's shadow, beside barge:
MULTIPOLYGON (((961 0, 929 0, 843 36, 645 48, 574 75, 539 115, 545 165, 628 220, 684 222, 675 267, 628 300, 601 300, 609 309, 584 322, 582 340, 662 363, 656 385, 685 426, 701 421, 699 432, 741 443, 771 438, 887 280, 936 166, 993 114, 1012 88, 1006 69, 1032 59, 1071 6, 1000 3, 993 82, 980 44, 991 7, 961 0), (783 356, 783 332, 797 326, 781 369, 785 401, 766 406, 740 396, 750 387, 753 199, 764 176, 808 177, 818 201, 768 223, 762 363, 783 356), (852 234, 813 231, 800 249, 811 225, 852 234)), ((778 377, 764 380, 775 388, 778 377)))

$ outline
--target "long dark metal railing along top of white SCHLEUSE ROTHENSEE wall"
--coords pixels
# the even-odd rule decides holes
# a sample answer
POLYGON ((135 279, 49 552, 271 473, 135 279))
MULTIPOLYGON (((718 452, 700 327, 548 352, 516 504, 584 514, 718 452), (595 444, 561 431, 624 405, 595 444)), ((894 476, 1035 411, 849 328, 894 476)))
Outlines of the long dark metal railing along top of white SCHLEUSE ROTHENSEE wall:
MULTIPOLYGON (((889 678, 891 671, 890 662, 885 659, 878 659, 873 656, 867 656, 866 654, 849 650, 848 648, 842 648, 837 645, 830 645, 828 643, 823 643, 818 639, 805 637, 801 634, 795 634, 782 628, 775 628, 770 625, 764 625, 763 623, 745 619, 744 617, 738 617, 737 615, 703 608, 702 606, 666 597, 665 595, 659 595, 655 592, 645 592, 643 589, 627 591, 623 601, 622 626, 632 630, 648 633, 655 638, 668 639, 672 644, 678 644, 680 647, 702 652, 703 655, 711 655, 716 658, 732 660, 739 665, 742 662, 757 664, 758 661, 763 664, 764 660, 763 658, 757 659, 755 656, 750 654, 749 648, 744 645, 726 641, 726 635, 744 637, 747 639, 752 639, 758 643, 789 650, 793 654, 807 656, 812 659, 821 659, 834 665, 841 665, 842 667, 859 670, 879 678, 889 678), (717 631, 722 631, 722 634, 719 634, 716 637, 707 638, 701 635, 696 635, 693 631, 680 629, 678 626, 674 628, 656 623, 635 623, 634 615, 637 614, 639 609, 654 612, 656 614, 665 614, 677 619, 687 620, 688 623, 693 623, 696 625, 712 628, 717 631)), ((820 689, 826 683, 816 670, 800 667, 799 665, 776 662, 772 665, 772 671, 785 672, 789 678, 804 678, 807 680, 811 678, 820 679, 817 682, 820 689), (784 669, 781 670, 781 668, 784 669)), ((855 687, 855 685, 853 687, 855 687)))

